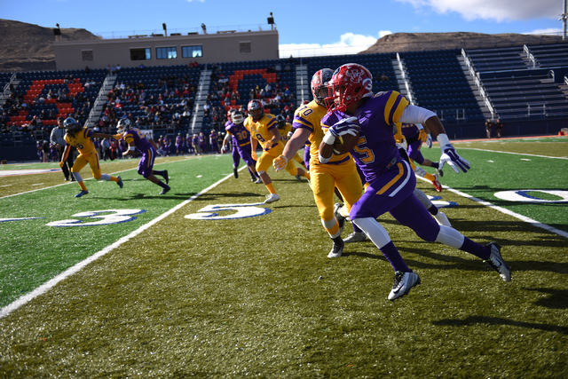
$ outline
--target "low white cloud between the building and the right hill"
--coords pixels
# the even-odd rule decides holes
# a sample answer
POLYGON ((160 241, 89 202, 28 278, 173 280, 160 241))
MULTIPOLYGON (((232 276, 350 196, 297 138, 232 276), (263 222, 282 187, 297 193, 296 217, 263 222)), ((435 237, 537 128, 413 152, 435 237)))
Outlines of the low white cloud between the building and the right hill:
MULTIPOLYGON (((378 38, 390 35, 388 30, 381 30, 377 33, 378 38)), ((374 45, 378 39, 375 36, 363 36, 353 33, 345 33, 339 37, 339 42, 319 44, 319 43, 285 43, 280 44, 280 58, 294 57, 313 57, 323 55, 343 55, 357 54, 359 51, 367 50, 374 45)))

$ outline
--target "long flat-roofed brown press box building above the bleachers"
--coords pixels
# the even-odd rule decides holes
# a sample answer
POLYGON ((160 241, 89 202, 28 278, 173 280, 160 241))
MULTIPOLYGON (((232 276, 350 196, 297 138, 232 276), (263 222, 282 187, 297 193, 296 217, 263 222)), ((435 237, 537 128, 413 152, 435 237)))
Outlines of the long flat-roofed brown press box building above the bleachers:
POLYGON ((53 43, 58 70, 279 59, 278 30, 178 33, 53 43))

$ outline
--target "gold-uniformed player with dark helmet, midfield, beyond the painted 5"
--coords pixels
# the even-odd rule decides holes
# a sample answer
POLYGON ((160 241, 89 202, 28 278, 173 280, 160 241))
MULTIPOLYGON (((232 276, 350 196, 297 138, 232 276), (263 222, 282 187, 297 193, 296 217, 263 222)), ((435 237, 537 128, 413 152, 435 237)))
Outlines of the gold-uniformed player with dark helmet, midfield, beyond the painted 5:
MULTIPOLYGON (((256 160, 256 144, 260 142, 263 146, 263 154, 256 160, 256 172, 258 172, 264 186, 270 193, 266 196, 264 202, 279 201, 280 195, 274 190, 272 179, 266 173, 274 158, 282 154, 284 150, 284 144, 280 140, 280 132, 276 127, 276 117, 273 114, 264 114, 264 106, 260 100, 250 100, 248 102, 248 117, 244 125, 250 132, 253 159, 256 160)), ((310 174, 304 169, 296 169, 294 162, 288 162, 282 168, 298 180, 300 177, 310 179, 310 174)))

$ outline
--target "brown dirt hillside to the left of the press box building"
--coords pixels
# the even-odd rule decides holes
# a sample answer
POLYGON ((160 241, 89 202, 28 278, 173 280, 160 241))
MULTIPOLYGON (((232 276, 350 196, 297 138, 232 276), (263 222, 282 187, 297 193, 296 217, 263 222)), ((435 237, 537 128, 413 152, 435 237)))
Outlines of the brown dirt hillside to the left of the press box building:
MULTIPOLYGON (((53 28, 0 19, 0 72, 54 70, 53 28)), ((98 38, 85 29, 61 28, 61 41, 98 38)))

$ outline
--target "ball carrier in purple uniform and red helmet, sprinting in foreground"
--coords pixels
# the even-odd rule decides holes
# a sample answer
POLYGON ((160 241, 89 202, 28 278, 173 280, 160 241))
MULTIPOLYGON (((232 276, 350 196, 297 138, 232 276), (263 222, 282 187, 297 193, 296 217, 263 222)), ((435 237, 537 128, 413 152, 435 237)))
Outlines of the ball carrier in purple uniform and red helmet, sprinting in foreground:
POLYGON ((499 272, 505 281, 511 280, 509 266, 501 257, 501 246, 490 242, 486 246, 469 240, 454 228, 438 225, 428 209, 414 196, 416 178, 395 144, 392 124, 422 123, 438 138, 442 155, 440 168, 448 163, 456 173, 467 172, 469 162, 456 153, 446 136, 438 116, 428 109, 414 107, 396 91, 373 94, 373 76, 358 64, 343 65, 335 70, 328 83, 326 99, 329 113, 322 124, 329 130, 319 146, 319 159, 327 162, 333 154, 335 138, 351 134, 359 136, 351 150, 369 186, 350 212, 351 221, 381 250, 395 271, 389 300, 405 296, 420 284, 420 277, 406 265, 389 233, 376 218, 385 212, 402 225, 414 230, 424 241, 437 241, 461 249, 484 260, 499 272))

